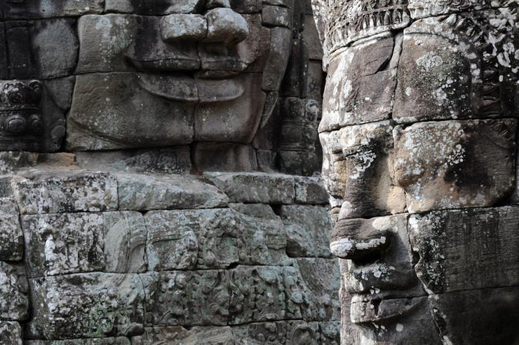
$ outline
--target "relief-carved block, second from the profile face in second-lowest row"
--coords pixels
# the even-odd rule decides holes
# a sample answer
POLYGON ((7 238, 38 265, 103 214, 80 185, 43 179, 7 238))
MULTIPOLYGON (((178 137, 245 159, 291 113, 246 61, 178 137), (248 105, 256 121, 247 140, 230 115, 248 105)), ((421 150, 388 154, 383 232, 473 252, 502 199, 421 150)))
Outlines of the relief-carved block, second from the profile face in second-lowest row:
POLYGON ((311 302, 295 267, 238 267, 230 294, 230 325, 302 318, 311 302))

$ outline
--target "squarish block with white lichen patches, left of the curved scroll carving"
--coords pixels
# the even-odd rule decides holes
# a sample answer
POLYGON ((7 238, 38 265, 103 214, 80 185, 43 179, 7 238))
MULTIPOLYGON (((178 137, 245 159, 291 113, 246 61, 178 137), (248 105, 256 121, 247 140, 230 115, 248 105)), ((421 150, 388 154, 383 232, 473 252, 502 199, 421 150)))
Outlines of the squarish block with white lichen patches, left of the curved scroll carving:
POLYGON ((48 213, 22 216, 30 277, 105 269, 101 213, 48 213))

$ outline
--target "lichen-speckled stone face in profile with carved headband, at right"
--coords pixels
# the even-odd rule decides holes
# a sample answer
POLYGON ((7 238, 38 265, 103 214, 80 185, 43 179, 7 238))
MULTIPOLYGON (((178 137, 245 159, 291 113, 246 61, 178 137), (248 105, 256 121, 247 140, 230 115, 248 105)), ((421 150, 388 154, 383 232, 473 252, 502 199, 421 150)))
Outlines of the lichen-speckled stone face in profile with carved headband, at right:
POLYGON ((515 344, 518 12, 375 2, 314 1, 342 340, 515 344))

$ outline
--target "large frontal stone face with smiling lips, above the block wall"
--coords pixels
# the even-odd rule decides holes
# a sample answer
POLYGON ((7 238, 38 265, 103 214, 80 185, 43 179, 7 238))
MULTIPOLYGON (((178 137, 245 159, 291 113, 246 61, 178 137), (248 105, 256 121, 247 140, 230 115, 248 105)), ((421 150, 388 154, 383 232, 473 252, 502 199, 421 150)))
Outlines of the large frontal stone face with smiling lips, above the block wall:
MULTIPOLYGON (((69 150, 252 141, 288 64, 291 8, 229 0, 85 3, 1 3, 2 78, 54 80, 43 103, 58 104, 59 112, 48 113, 60 119, 44 113, 52 122, 46 132, 54 122, 64 127, 66 113, 69 150)), ((56 139, 42 150, 59 146, 56 139)))

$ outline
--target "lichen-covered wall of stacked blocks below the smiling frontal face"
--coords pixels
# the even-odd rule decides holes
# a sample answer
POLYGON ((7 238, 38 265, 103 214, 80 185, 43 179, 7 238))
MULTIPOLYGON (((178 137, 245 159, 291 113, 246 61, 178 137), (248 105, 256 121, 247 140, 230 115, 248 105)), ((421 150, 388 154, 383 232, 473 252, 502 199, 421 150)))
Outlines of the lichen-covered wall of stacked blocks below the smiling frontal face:
POLYGON ((319 178, 71 168, 2 185, 4 344, 339 342, 319 178))

